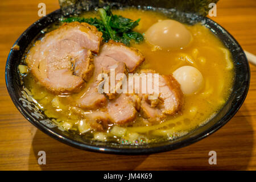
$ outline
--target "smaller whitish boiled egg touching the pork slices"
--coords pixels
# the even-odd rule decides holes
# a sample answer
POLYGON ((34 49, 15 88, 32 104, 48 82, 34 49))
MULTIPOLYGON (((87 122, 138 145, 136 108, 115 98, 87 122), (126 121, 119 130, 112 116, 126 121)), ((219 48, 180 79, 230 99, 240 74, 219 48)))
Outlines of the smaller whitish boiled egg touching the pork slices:
POLYGON ((179 82, 184 94, 196 93, 203 85, 203 75, 195 67, 184 66, 176 69, 172 75, 179 82))

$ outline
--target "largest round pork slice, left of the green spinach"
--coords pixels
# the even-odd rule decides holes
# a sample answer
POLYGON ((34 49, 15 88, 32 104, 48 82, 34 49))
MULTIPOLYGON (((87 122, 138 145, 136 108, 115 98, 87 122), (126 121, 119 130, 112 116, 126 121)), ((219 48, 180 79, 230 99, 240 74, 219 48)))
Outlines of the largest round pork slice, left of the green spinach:
POLYGON ((48 90, 73 92, 92 76, 92 52, 99 51, 101 36, 87 23, 65 23, 35 43, 26 63, 48 90))

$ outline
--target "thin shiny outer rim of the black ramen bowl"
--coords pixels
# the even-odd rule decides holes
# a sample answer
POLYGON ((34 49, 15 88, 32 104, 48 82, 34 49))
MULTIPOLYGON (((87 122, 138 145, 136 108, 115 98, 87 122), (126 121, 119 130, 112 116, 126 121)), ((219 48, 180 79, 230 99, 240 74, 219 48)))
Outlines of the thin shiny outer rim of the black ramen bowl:
MULTIPOLYGON (((19 38, 14 43, 14 45, 17 44, 20 41, 20 39, 22 39, 22 37, 26 34, 26 32, 28 32, 32 27, 34 27, 35 24, 42 22, 43 20, 45 20, 49 16, 52 16, 52 15, 55 15, 55 14, 60 14, 60 12, 61 12, 60 9, 52 11, 52 13, 47 14, 43 18, 40 18, 39 20, 37 20, 35 23, 31 24, 31 26, 28 27, 19 36, 19 38)), ((203 139, 205 137, 208 137, 210 134, 213 134, 215 131, 217 131, 222 126, 224 126, 237 113, 237 111, 242 106, 242 104, 245 101, 245 98, 247 96, 247 93, 249 91, 249 85, 250 85, 250 67, 249 67, 249 63, 247 61, 246 55, 243 52, 243 49, 241 48, 240 44, 237 42, 236 39, 234 39, 234 37, 232 35, 229 34, 228 31, 225 30, 225 28, 221 27, 220 24, 214 22, 212 19, 209 19, 207 17, 205 17, 205 20, 209 21, 210 23, 216 24, 216 26, 218 26, 218 28, 220 28, 222 32, 224 32, 226 35, 228 35, 229 38, 233 39, 232 41, 234 43, 236 43, 236 46, 238 48, 240 48, 241 55, 246 60, 248 79, 246 80, 246 88, 243 91, 242 96, 241 96, 240 100, 237 103, 237 107, 235 109, 233 109, 232 112, 229 113, 228 115, 224 115, 224 117, 226 116, 225 119, 223 119, 224 117, 222 117, 221 119, 219 119, 218 122, 214 123, 213 126, 209 127, 207 130, 204 130, 203 132, 201 132, 199 134, 196 134, 193 137, 186 138, 186 139, 181 140, 181 141, 179 141, 177 143, 168 144, 168 145, 164 145, 164 146, 157 146, 157 147, 148 147, 148 148, 114 148, 114 147, 110 147, 110 146, 97 146, 97 145, 93 145, 93 144, 84 144, 84 143, 80 143, 79 141, 72 140, 72 139, 69 139, 69 138, 67 138, 67 137, 65 137, 63 135, 60 135, 60 134, 56 133, 55 131, 52 131, 51 129, 49 129, 48 127, 43 125, 42 123, 35 122, 34 119, 32 119, 30 117, 30 115, 27 113, 27 111, 22 108, 22 105, 20 104, 18 99, 15 97, 14 89, 9 84, 11 82, 11 77, 10 77, 11 71, 8 68, 8 65, 9 65, 9 62, 10 62, 10 59, 11 59, 10 57, 13 54, 13 50, 12 49, 11 49, 11 51, 9 53, 9 56, 7 57, 6 68, 5 68, 5 81, 6 81, 6 87, 7 87, 9 96, 11 97, 11 100, 13 101, 15 107, 20 111, 20 113, 23 115, 24 118, 26 118, 30 123, 32 123, 32 125, 36 126, 39 130, 43 131, 43 133, 46 133, 50 137, 52 137, 52 138, 54 138, 56 140, 59 140, 60 142, 63 142, 65 144, 68 144, 69 146, 80 148, 82 150, 96 151, 96 152, 103 152, 103 153, 110 153, 110 154, 141 155, 141 154, 152 154, 152 153, 156 153, 156 152, 165 152, 165 151, 175 150, 177 148, 188 146, 188 145, 190 145, 192 143, 198 142, 199 140, 201 140, 201 139, 203 139)), ((221 42, 222 42, 222 40, 221 40, 221 42)))

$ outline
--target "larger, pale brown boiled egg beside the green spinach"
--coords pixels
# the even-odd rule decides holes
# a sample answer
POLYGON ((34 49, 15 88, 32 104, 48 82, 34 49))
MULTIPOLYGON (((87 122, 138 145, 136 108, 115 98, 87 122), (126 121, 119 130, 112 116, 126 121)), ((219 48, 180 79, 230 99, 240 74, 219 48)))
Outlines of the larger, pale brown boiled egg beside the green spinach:
POLYGON ((167 19, 153 24, 144 34, 146 40, 160 48, 183 48, 191 42, 191 34, 180 22, 167 19))

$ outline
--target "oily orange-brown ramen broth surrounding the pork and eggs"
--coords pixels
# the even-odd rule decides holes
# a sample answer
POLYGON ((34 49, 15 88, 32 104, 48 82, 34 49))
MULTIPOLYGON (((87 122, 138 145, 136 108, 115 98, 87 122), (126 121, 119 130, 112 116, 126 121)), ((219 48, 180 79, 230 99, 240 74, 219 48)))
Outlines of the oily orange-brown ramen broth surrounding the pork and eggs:
MULTIPOLYGON (((159 20, 167 19, 164 14, 137 9, 113 10, 113 14, 133 20, 141 18, 139 26, 135 28, 135 31, 141 33, 159 20)), ((89 12, 81 16, 97 17, 97 14, 89 12)), ((146 126, 142 119, 138 118, 132 126, 128 126, 124 130, 117 128, 122 131, 119 133, 116 131, 112 133, 112 127, 110 127, 106 133, 87 132, 84 135, 91 138, 94 134, 96 140, 110 140, 126 144, 172 139, 203 124, 221 108, 229 96, 233 82, 233 69, 229 63, 230 53, 206 27, 200 24, 186 25, 186 27, 191 32, 192 42, 183 49, 161 50, 147 42, 131 44, 146 57, 141 69, 154 69, 159 74, 169 75, 179 67, 191 65, 202 73, 203 88, 196 94, 184 96, 181 113, 152 126, 146 126)), ((55 118, 60 127, 80 133, 77 125, 82 118, 72 112, 71 103, 72 97, 80 97, 81 94, 72 96, 63 94, 56 97, 40 86, 30 73, 23 77, 23 82, 24 87, 31 90, 33 97, 48 117, 55 118), (53 104, 56 101, 55 98, 59 104, 57 107, 53 104)))

